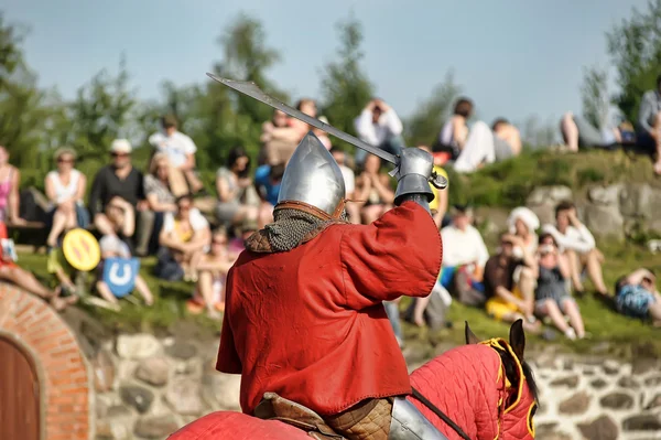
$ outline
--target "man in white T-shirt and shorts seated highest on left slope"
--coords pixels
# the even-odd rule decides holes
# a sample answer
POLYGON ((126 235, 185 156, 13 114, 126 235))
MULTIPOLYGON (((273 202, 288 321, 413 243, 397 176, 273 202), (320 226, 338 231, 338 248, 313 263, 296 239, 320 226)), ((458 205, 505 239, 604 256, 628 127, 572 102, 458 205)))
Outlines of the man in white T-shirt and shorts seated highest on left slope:
POLYGON ((197 147, 193 139, 177 130, 176 118, 172 115, 161 118, 162 131, 149 137, 149 143, 167 155, 173 170, 170 173, 170 184, 175 195, 193 194, 203 190, 195 172, 195 152, 197 147), (183 176, 183 179, 182 179, 183 176))

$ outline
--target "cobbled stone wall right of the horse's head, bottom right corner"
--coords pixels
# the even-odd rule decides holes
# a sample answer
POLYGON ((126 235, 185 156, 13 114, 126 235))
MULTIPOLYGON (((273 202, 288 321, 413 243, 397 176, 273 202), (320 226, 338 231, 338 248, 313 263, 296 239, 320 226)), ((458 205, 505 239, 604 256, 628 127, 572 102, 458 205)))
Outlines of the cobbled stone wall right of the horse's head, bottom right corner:
POLYGON ((532 365, 541 401, 538 439, 661 439, 658 359, 631 364, 551 351, 532 365))

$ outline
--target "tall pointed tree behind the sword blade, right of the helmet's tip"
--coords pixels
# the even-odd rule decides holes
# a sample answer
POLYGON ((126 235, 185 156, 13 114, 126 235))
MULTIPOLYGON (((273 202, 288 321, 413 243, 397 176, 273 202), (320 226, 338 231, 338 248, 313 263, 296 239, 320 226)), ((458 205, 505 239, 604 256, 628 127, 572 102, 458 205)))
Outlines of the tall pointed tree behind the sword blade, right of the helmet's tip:
MULTIPOLYGON (((373 96, 375 87, 360 65, 364 57, 360 22, 350 15, 336 28, 340 45, 337 50, 338 60, 328 63, 323 72, 323 114, 334 127, 355 133, 354 119, 373 96)), ((338 139, 333 139, 333 142, 339 148, 348 148, 346 142, 338 139)))

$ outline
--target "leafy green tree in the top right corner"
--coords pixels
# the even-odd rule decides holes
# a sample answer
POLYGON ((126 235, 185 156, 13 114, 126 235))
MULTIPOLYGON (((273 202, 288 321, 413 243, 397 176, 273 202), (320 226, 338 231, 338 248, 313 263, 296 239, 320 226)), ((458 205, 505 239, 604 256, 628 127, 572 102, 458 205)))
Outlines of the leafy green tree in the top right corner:
POLYGON ((651 0, 646 12, 633 8, 632 17, 607 34, 620 88, 615 103, 631 121, 637 120, 642 94, 657 87, 655 78, 661 73, 660 23, 661 0, 651 0))

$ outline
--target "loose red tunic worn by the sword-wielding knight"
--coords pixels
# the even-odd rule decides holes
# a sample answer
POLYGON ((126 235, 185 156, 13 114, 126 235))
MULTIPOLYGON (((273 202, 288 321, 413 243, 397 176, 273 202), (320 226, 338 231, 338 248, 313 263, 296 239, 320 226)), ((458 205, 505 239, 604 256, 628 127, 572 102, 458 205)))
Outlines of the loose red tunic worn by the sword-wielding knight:
POLYGON ((266 391, 321 415, 410 394, 381 302, 427 296, 442 254, 434 221, 413 202, 286 253, 241 254, 227 277, 216 368, 242 375, 243 412, 266 391))

